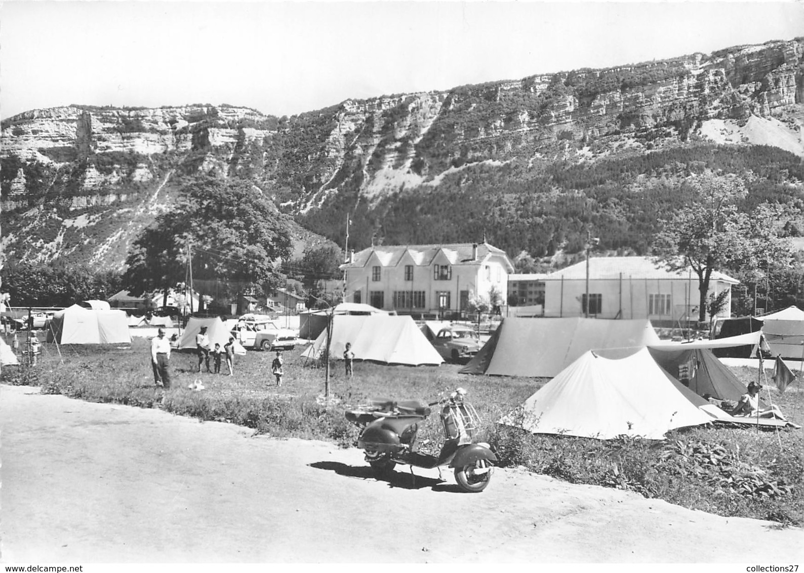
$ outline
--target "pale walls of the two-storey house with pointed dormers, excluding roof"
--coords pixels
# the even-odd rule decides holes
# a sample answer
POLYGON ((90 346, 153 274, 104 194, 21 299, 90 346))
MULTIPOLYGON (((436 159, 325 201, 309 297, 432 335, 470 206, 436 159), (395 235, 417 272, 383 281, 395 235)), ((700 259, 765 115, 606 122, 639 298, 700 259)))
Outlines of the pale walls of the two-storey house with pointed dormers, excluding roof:
MULTIPOLYGON (((438 293, 449 293, 449 310, 461 310, 461 292, 480 293, 488 297, 491 286, 494 285, 500 297, 505 298, 507 292, 507 270, 503 263, 490 257, 478 264, 450 265, 443 254, 439 254, 433 264, 418 266, 405 256, 400 264, 393 267, 383 267, 373 257, 363 268, 347 269, 347 297, 348 302, 355 302, 355 293, 359 294, 359 301, 372 304, 371 293, 383 293, 385 310, 397 310, 412 313, 438 313, 438 293), (452 268, 449 280, 436 280, 433 276, 434 265, 449 265, 452 268), (412 265, 412 280, 405 280, 405 266, 412 265), (374 280, 373 267, 379 266, 379 280, 374 280), (395 292, 425 293, 423 307, 395 307, 395 292)), ((471 295, 470 295, 471 296, 471 295)))

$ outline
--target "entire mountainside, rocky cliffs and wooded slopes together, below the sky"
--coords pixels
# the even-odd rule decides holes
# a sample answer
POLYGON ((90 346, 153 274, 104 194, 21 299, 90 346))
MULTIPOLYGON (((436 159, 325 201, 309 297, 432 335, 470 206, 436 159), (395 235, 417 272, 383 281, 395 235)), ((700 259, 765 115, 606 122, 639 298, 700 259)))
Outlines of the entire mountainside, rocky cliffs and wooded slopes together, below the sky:
POLYGON ((802 101, 793 39, 293 117, 229 104, 31 110, 2 121, 2 245, 19 261, 122 271, 178 190, 213 177, 247 182, 297 237, 341 248, 348 218, 357 249, 485 236, 561 264, 593 231, 602 249, 644 253, 685 202, 685 178, 705 170, 745 179, 741 208, 798 206, 802 101))

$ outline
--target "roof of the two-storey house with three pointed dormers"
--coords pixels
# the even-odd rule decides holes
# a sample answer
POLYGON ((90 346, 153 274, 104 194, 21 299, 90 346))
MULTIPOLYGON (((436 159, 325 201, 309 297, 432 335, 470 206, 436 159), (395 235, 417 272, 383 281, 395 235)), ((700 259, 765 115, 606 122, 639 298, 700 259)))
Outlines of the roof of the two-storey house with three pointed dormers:
POLYGON ((427 267, 433 264, 439 252, 444 252, 449 264, 470 265, 480 264, 490 256, 502 256, 508 264, 510 270, 514 270, 514 265, 503 249, 492 247, 487 243, 450 243, 450 244, 427 244, 427 245, 380 245, 378 247, 364 248, 360 252, 355 252, 354 260, 351 263, 344 263, 340 268, 363 268, 368 263, 371 255, 376 255, 379 264, 384 267, 395 267, 400 263, 405 252, 410 256, 417 266, 427 267), (473 248, 477 246, 477 259, 473 257, 473 248))

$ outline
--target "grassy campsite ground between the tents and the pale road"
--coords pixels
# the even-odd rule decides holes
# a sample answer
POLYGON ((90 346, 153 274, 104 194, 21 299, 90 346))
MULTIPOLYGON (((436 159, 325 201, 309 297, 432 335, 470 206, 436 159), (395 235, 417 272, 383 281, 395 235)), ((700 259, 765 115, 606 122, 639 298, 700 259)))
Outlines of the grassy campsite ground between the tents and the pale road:
MULTIPOLYGON (((367 399, 425 399, 464 387, 482 417, 482 440, 497 452, 500 465, 523 465, 573 483, 630 489, 646 497, 727 516, 769 519, 804 525, 804 436, 802 430, 781 432, 749 428, 687 428, 667 440, 592 440, 571 436, 534 436, 495 424, 547 379, 458 374, 459 366, 384 366, 355 362, 347 379, 343 362, 330 368, 330 401, 322 397, 325 369, 301 358, 301 349, 285 352, 282 387, 270 374, 272 353, 249 351, 236 356, 235 374, 199 374, 195 354, 174 352, 173 385, 154 386, 148 341, 135 338, 122 347, 43 344, 35 367, 6 366, 2 382, 42 387, 46 393, 96 402, 159 407, 199 420, 219 420, 277 437, 329 440, 355 444, 357 428, 343 411, 367 399), (187 387, 200 379, 205 389, 187 387)), ((226 366, 222 367, 224 372, 226 366)), ((757 370, 733 370, 748 383, 757 370)), ((804 425, 801 383, 773 403, 804 425)), ((767 389, 762 398, 767 398, 767 389)), ((437 439, 437 416, 425 424, 423 437, 437 439)))

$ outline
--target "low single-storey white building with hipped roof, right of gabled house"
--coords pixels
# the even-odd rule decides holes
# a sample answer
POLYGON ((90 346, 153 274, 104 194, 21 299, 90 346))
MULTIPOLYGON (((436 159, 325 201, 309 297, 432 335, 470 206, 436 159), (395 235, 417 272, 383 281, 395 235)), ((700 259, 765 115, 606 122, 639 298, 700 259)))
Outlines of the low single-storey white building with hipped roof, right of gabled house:
MULTIPOLYGON (((544 280, 544 316, 585 315, 585 260, 541 280, 544 280)), ((731 316, 733 284, 740 284, 740 281, 722 272, 712 272, 707 297, 728 291, 724 308, 717 317, 731 316)), ((699 304, 698 276, 691 269, 667 271, 646 256, 589 259, 590 317, 648 318, 675 325, 677 321, 697 321, 699 304)))

